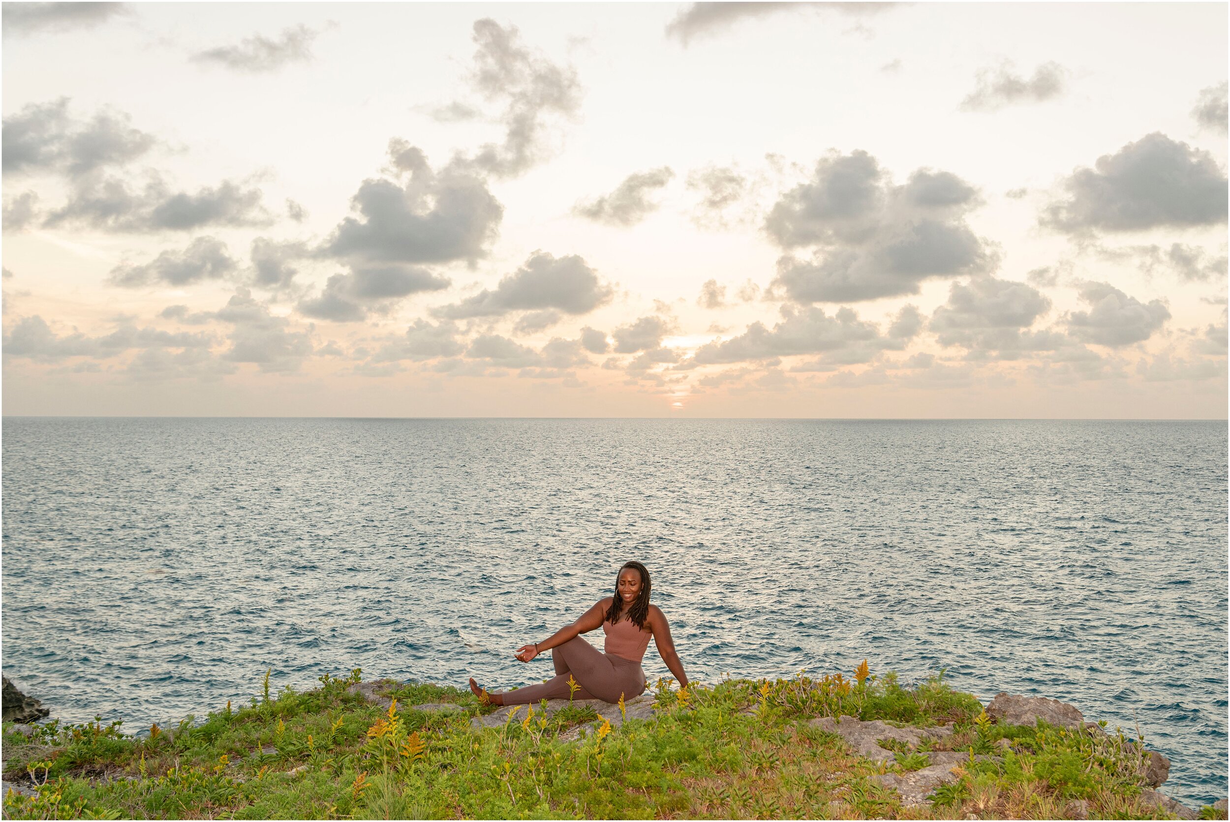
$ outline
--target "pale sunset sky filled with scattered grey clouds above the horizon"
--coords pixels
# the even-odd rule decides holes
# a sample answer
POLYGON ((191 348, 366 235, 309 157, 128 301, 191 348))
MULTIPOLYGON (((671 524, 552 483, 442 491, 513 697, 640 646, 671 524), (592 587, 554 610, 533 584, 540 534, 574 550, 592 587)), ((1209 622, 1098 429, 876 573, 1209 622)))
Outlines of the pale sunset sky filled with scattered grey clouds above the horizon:
POLYGON ((1226 5, 2 5, 5 415, 1226 417, 1226 5))

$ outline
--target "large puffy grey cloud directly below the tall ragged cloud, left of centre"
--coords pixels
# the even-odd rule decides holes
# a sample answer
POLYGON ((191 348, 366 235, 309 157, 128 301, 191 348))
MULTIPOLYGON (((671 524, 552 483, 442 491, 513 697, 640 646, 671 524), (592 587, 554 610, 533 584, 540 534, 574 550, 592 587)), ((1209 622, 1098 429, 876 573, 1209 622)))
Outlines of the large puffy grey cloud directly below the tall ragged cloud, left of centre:
POLYGON ((403 183, 364 180, 347 217, 325 245, 328 256, 367 262, 475 262, 487 255, 504 208, 478 177, 453 167, 433 171, 423 153, 394 138, 394 171, 403 183))

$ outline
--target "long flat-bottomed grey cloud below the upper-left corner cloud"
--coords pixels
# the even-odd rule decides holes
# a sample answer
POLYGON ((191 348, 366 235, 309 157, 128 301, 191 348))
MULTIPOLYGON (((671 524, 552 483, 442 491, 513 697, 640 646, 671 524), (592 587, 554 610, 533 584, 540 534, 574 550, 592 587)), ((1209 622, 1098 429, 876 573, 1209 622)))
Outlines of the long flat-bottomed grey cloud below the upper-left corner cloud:
POLYGON ((63 207, 49 212, 43 225, 133 234, 264 226, 273 220, 261 198, 260 188, 245 188, 231 181, 189 193, 172 191, 154 175, 138 192, 114 177, 92 177, 76 186, 63 207))

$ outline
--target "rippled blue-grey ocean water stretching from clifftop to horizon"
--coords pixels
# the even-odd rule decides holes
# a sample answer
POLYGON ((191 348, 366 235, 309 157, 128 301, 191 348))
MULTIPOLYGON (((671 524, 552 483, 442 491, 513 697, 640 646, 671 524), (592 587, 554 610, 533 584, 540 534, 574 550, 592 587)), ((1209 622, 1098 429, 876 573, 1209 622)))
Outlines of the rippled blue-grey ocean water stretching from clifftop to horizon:
MULTIPOLYGON (((323 672, 492 687, 643 561, 694 680, 1073 703, 1226 794, 1226 423, 21 418, 4 672, 135 731, 323 672)), ((597 639, 600 647, 600 636, 597 639)), ((645 668, 669 676, 651 645, 645 668)))

